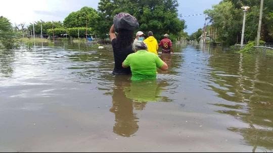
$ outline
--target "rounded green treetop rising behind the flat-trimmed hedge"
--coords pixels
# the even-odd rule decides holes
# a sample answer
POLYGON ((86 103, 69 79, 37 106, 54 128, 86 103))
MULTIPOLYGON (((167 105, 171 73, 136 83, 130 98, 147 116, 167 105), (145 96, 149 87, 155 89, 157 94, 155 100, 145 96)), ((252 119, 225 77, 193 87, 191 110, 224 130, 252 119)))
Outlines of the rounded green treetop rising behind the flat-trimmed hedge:
POLYGON ((83 7, 77 12, 70 13, 64 20, 65 27, 95 27, 99 19, 98 12, 89 7, 83 7))

